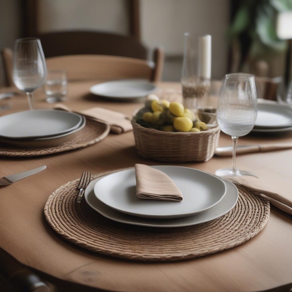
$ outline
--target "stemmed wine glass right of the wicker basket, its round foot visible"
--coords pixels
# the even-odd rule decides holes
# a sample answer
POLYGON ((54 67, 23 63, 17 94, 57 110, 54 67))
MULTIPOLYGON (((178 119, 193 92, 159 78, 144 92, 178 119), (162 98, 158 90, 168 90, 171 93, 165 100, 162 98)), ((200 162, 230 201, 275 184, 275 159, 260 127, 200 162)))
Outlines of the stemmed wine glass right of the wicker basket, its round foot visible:
MULTIPOLYGON (((257 95, 254 76, 245 73, 225 75, 217 109, 217 120, 222 132, 233 141, 232 168, 218 169, 218 176, 253 175, 236 169, 235 154, 238 137, 247 135, 257 115, 257 95)), ((253 175, 255 176, 255 175, 253 175)))

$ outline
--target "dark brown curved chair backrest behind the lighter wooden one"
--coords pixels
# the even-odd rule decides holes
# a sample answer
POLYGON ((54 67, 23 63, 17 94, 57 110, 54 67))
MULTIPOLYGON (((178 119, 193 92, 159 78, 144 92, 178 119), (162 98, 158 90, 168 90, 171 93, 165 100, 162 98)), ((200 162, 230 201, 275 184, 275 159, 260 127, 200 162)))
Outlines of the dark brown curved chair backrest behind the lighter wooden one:
POLYGON ((147 50, 134 36, 67 31, 39 34, 46 58, 65 55, 113 55, 145 60, 147 50), (53 45, 52 45, 53 44, 53 45))

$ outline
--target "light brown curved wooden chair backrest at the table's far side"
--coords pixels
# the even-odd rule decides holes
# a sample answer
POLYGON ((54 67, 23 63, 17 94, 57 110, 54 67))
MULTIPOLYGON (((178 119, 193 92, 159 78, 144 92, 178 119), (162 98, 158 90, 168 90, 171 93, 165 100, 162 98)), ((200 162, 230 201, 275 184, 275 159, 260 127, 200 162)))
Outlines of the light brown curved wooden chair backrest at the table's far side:
POLYGON ((69 81, 124 78, 159 81, 161 78, 153 62, 127 57, 69 55, 47 58, 46 63, 48 69, 65 70, 69 81))

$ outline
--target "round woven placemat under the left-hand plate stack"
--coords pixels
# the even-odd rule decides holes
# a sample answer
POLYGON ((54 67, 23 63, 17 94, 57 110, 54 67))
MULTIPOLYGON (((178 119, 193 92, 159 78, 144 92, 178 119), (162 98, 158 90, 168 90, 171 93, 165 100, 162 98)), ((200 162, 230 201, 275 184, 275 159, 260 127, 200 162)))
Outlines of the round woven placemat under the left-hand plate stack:
POLYGON ((78 135, 75 135, 72 140, 62 143, 61 145, 48 148, 18 148, 1 145, 0 156, 41 156, 83 148, 103 140, 109 133, 109 130, 109 125, 86 119, 86 125, 78 132, 78 135))

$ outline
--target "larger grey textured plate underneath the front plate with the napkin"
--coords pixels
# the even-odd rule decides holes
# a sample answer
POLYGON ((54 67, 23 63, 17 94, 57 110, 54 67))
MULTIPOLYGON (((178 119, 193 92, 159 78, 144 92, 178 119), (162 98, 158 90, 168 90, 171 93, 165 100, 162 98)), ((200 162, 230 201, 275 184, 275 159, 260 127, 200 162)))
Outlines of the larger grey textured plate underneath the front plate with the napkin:
POLYGON ((223 199, 217 203, 215 206, 209 208, 201 213, 182 217, 182 218, 171 218, 171 219, 156 219, 156 218, 142 218, 125 213, 116 211, 107 205, 103 204, 100 200, 95 197, 94 185, 101 178, 96 178, 91 181, 84 192, 84 197, 87 204, 97 211, 101 215, 111 220, 139 226, 147 227, 184 227, 190 225, 196 225, 214 220, 218 217, 223 216, 229 212, 236 204, 238 199, 237 187, 231 183, 229 180, 223 180, 226 185, 226 194, 223 199))

